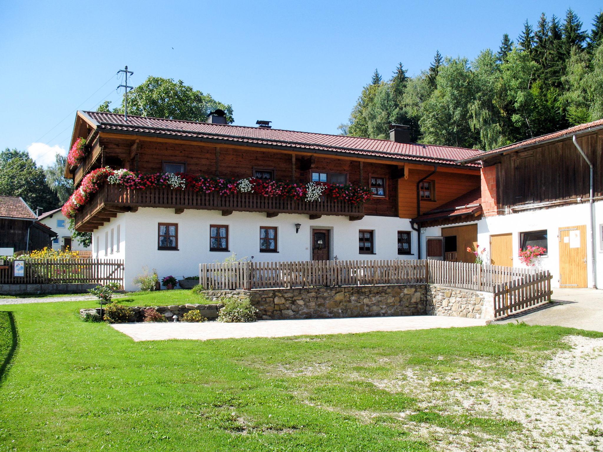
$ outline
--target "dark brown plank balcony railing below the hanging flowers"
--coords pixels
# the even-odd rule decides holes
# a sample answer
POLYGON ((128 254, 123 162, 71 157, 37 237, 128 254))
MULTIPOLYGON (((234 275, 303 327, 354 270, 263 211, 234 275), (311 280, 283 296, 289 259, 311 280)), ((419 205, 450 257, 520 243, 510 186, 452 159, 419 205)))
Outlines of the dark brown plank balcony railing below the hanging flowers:
POLYGON ((323 215, 349 216, 350 221, 364 216, 364 204, 350 204, 324 196, 318 201, 263 196, 257 193, 238 193, 223 196, 219 193, 200 193, 192 190, 152 188, 125 189, 105 184, 90 198, 81 212, 75 215, 75 229, 93 231, 104 222, 115 218, 118 212, 136 212, 139 207, 163 207, 182 213, 185 209, 221 210, 222 215, 233 212, 265 212, 268 218, 279 213, 309 215, 311 219, 323 215))

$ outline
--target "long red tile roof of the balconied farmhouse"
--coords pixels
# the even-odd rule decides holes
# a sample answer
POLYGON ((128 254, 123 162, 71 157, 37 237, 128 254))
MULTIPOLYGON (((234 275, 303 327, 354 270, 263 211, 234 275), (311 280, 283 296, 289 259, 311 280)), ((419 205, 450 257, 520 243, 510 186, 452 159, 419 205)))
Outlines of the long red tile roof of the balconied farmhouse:
POLYGON ((417 160, 429 163, 458 165, 458 160, 481 154, 477 149, 453 146, 396 143, 390 140, 327 135, 293 130, 247 127, 241 125, 209 124, 206 122, 179 121, 175 119, 146 118, 117 113, 81 112, 89 116, 98 130, 128 131, 134 133, 161 134, 163 136, 197 137, 256 145, 286 146, 317 151, 344 152, 390 159, 417 160))

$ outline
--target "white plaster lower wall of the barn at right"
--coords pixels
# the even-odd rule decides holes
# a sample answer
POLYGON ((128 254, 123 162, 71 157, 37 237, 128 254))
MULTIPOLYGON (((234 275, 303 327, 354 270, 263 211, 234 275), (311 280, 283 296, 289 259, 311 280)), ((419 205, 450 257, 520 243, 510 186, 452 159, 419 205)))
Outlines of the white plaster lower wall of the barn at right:
MULTIPOLYGON (((597 260, 597 286, 603 287, 603 243, 601 228, 603 222, 603 202, 595 202, 595 244, 597 260)), ((586 225, 588 285, 592 287, 592 252, 590 245, 589 203, 581 202, 570 206, 551 207, 549 209, 517 212, 482 218, 478 222, 478 243, 485 246, 486 256, 490 256, 491 234, 513 234, 513 266, 525 267, 519 261, 520 233, 526 231, 548 231, 548 256, 538 258, 537 268, 549 270, 553 275, 552 287, 559 287, 559 228, 586 225)), ((489 260, 487 260, 489 262, 489 260)))

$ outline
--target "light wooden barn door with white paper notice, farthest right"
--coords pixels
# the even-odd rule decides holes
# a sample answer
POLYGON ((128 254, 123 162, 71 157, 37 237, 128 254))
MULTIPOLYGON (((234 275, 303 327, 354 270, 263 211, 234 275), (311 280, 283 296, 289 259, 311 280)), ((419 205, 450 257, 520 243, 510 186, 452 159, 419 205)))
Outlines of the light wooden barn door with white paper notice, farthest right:
POLYGON ((586 225, 559 228, 559 286, 587 284, 586 225))

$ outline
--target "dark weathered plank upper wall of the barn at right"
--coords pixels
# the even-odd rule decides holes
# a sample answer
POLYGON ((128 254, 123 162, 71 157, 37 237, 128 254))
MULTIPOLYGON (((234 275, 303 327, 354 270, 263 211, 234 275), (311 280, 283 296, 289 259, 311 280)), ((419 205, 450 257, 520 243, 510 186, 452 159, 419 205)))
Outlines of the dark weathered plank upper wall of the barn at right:
MULTIPOLYGON (((595 165, 595 196, 603 194, 602 134, 578 138, 595 165)), ((502 155, 496 174, 499 209, 531 202, 587 198, 589 166, 572 139, 502 155)))

